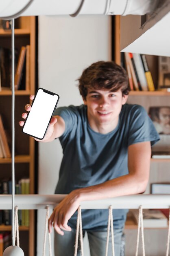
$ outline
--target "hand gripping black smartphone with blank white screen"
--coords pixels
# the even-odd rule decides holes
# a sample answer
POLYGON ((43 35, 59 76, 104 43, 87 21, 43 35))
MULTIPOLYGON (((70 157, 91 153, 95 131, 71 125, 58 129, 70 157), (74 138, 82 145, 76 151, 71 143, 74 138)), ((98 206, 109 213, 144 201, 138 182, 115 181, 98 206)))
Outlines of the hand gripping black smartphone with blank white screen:
POLYGON ((54 124, 57 122, 52 114, 57 106, 59 95, 39 88, 35 96, 30 96, 33 103, 32 106, 30 104, 25 106, 28 113, 22 114, 22 118, 26 121, 20 121, 20 126, 23 126, 24 133, 34 137, 37 141, 45 142, 52 136, 54 124))

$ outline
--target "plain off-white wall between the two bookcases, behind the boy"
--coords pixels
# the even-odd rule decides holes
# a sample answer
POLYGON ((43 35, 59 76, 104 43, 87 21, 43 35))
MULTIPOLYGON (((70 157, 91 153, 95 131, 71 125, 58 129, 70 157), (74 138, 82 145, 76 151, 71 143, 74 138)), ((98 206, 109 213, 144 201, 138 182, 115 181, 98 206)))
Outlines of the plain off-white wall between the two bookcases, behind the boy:
MULTIPOLYGON (((58 93, 58 106, 83 103, 75 80, 91 63, 110 60, 110 24, 109 16, 100 15, 39 17, 39 87, 58 93)), ((39 143, 39 194, 54 193, 61 158, 62 150, 58 140, 39 143)), ((39 210, 37 256, 42 255, 44 225, 45 211, 39 210)), ((88 256, 86 245, 87 240, 85 255, 88 256)))

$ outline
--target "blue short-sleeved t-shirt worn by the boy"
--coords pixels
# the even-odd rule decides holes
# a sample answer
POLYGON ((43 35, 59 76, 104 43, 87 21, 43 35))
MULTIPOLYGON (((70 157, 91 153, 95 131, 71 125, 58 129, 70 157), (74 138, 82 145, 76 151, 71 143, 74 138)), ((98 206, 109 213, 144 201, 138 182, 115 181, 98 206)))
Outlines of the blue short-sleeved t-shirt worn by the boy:
MULTIPOLYGON (((65 121, 65 132, 59 137, 63 159, 56 194, 68 194, 128 174, 128 146, 142 141, 153 145, 159 140, 146 110, 139 105, 123 105, 117 127, 107 134, 92 130, 85 105, 57 108, 55 115, 65 121)), ((126 213, 126 209, 113 210, 114 227, 123 227, 126 213)), ((75 228, 76 217, 77 212, 68 225, 75 228)), ((107 222, 105 209, 82 210, 85 230, 106 228, 107 222)))

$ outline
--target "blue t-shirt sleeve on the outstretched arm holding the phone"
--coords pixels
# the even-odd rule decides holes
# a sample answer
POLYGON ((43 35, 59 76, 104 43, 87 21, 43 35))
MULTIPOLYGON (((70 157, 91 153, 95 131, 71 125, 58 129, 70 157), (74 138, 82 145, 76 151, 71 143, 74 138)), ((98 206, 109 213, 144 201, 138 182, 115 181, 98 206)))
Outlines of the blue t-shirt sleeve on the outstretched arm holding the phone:
POLYGON ((54 115, 59 115, 65 121, 65 132, 62 137, 67 137, 67 135, 72 130, 73 126, 77 123, 77 113, 74 106, 60 107, 54 112, 54 115))

